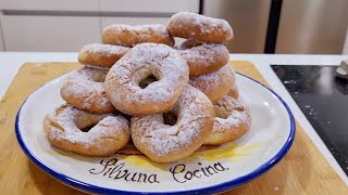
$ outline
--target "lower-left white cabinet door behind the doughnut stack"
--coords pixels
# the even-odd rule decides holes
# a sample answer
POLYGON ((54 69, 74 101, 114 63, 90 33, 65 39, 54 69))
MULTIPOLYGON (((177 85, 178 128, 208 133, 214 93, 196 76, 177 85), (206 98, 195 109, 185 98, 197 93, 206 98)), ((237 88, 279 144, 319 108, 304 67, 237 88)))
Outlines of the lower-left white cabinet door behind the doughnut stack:
POLYGON ((7 51, 77 52, 100 41, 100 18, 78 16, 1 17, 7 51))

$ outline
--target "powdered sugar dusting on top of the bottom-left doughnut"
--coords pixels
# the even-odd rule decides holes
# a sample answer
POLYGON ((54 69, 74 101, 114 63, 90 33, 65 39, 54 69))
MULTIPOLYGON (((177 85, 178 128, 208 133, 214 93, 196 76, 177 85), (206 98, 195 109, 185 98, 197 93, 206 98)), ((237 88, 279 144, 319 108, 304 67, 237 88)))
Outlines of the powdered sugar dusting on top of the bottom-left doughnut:
POLYGON ((80 144, 87 150, 102 144, 103 136, 112 138, 121 131, 129 130, 128 121, 120 116, 91 114, 70 105, 62 105, 46 119, 49 122, 48 136, 51 140, 80 144), (95 127, 88 132, 83 132, 78 128, 78 126, 90 125, 95 127))

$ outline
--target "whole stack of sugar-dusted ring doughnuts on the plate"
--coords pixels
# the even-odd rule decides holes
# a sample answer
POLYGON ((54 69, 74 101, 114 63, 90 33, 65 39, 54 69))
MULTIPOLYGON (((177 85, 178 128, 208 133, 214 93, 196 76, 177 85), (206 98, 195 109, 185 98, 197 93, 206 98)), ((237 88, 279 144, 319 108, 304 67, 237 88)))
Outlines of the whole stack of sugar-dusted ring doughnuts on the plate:
POLYGON ((110 156, 132 142, 156 162, 221 145, 250 128, 225 47, 229 24, 196 13, 167 26, 111 25, 102 43, 78 53, 84 66, 61 88, 66 102, 46 116, 48 141, 87 156, 110 156), (187 39, 175 46, 174 37, 187 39))

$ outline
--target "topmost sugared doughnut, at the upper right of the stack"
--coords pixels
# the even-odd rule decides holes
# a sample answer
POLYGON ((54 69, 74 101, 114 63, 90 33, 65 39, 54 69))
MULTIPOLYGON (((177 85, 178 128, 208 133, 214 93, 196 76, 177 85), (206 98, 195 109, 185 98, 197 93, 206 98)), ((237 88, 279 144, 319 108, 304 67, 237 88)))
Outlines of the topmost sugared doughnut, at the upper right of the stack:
POLYGON ((169 24, 174 37, 196 39, 203 42, 227 42, 233 39, 233 30, 225 20, 207 17, 190 12, 174 14, 169 24))

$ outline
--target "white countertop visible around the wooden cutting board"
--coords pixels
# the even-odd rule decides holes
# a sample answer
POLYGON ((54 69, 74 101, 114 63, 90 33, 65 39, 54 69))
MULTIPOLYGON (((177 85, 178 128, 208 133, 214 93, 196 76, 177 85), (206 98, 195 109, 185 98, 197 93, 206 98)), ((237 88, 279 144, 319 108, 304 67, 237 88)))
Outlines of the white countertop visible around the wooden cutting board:
MULTIPOLYGON (((348 60, 348 55, 271 55, 271 54, 232 54, 231 60, 252 62, 271 88, 278 93, 289 105, 295 118, 303 127, 303 130, 312 139, 323 156, 330 161, 336 172, 348 185, 348 177, 339 167, 334 156, 330 153, 324 142, 316 134, 313 127, 297 106, 290 94, 270 67, 270 64, 294 64, 294 65, 338 65, 340 61, 348 60)), ((0 52, 0 98, 10 86, 18 68, 25 62, 76 62, 77 53, 20 53, 0 52)), ((348 167, 347 167, 348 169, 348 167)))

